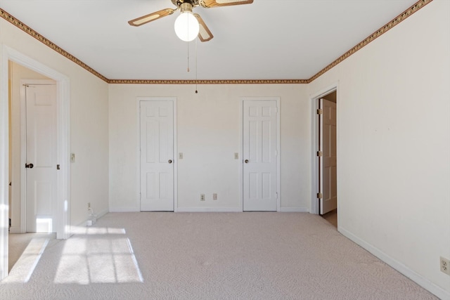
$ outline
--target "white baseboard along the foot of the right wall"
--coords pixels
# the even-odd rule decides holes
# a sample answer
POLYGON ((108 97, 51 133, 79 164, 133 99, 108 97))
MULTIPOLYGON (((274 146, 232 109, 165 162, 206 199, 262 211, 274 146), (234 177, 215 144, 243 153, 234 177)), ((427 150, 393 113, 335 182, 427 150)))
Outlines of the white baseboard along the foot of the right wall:
POLYGON ((438 287, 427 278, 424 278, 422 275, 419 275, 418 273, 414 272, 413 270, 405 266, 403 263, 385 254, 385 252, 374 247, 368 242, 361 240, 359 237, 356 237, 356 235, 350 233, 349 231, 345 230, 342 227, 338 228, 338 231, 342 233, 342 235, 347 237, 349 240, 352 240, 352 242, 359 244, 359 246, 363 247, 368 252, 371 252, 371 254, 377 256, 378 259, 381 259, 395 270, 398 270, 401 274, 405 275, 407 278, 413 280, 413 282, 416 282, 418 285, 428 290, 428 292, 435 294, 435 296, 438 296, 440 299, 450 299, 450 292, 447 292, 442 287, 438 287))

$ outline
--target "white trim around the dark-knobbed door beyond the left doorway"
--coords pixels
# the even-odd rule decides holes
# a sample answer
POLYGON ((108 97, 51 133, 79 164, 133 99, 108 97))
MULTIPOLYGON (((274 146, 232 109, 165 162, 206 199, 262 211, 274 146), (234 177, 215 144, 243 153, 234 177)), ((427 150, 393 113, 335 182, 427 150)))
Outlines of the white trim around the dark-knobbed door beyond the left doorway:
POLYGON ((24 84, 56 84, 56 82, 49 79, 20 80, 20 233, 27 232, 27 171, 23 168, 27 162, 27 98, 24 84))

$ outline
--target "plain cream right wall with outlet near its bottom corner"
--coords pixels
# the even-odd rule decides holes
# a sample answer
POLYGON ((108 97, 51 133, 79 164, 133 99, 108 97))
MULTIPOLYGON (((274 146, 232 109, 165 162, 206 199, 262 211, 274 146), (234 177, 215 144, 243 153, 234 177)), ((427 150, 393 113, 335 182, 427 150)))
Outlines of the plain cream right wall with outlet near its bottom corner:
POLYGON ((450 276, 450 1, 309 84, 338 86, 340 231, 443 299, 450 276))

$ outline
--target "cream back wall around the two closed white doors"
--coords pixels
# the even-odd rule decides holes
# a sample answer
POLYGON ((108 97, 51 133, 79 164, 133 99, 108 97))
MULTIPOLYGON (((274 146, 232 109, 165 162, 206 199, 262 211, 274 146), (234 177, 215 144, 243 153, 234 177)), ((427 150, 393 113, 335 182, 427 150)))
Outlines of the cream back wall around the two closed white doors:
POLYGON ((139 211, 137 110, 141 96, 177 99, 179 210, 242 211, 240 98, 281 97, 281 209, 309 211, 309 117, 306 85, 110 85, 110 210, 139 211), (200 193, 206 201, 200 202, 200 193), (212 200, 212 193, 218 200, 212 200))

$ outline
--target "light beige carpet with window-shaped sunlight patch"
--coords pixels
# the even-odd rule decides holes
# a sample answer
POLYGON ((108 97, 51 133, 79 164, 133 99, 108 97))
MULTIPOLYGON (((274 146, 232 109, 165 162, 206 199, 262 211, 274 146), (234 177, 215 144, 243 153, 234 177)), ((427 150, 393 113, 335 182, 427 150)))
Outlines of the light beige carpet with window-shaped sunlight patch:
POLYGON ((110 213, 34 266, 0 299, 437 299, 305 213, 110 213))

